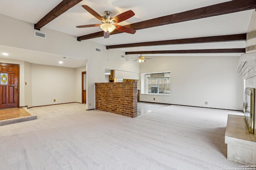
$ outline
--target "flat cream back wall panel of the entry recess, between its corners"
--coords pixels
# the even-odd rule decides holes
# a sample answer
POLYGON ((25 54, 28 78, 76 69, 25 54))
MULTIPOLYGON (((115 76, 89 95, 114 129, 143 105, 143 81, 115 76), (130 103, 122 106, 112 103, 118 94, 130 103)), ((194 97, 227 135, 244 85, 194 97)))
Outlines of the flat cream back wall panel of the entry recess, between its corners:
POLYGON ((75 68, 32 64, 33 106, 70 103, 75 100, 75 68))

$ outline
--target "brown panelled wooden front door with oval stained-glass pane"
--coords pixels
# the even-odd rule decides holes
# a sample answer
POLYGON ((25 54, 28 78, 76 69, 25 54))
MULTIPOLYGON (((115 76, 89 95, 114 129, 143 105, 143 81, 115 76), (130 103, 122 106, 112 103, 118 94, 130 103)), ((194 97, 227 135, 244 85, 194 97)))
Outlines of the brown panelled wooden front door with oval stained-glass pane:
POLYGON ((18 107, 19 65, 0 63, 0 109, 18 107))

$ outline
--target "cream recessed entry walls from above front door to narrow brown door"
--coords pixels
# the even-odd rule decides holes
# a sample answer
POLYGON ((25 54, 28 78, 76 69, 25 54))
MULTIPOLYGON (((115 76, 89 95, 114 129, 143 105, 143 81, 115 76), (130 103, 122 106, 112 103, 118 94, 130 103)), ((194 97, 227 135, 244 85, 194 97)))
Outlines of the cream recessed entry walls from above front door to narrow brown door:
POLYGON ((85 66, 80 68, 66 68, 32 64, 26 61, 24 62, 9 59, 0 59, 0 63, 20 64, 20 107, 34 107, 59 103, 82 102, 81 72, 86 70, 85 66), (71 75, 72 72, 74 73, 74 70, 75 74, 71 75), (66 83, 66 80, 62 79, 60 81, 58 78, 67 78, 67 76, 72 76, 71 79, 74 78, 74 81, 72 83, 66 83), (32 81, 34 82, 33 84, 32 81), (25 85, 25 83, 27 84, 25 85), (54 85, 52 83, 54 83, 54 85), (55 88, 52 89, 52 86, 55 88), (72 97, 72 95, 70 96, 70 92, 72 91, 75 92, 75 98, 72 97), (61 99, 59 99, 60 96, 61 99), (56 99, 56 102, 53 102, 53 99, 56 99))

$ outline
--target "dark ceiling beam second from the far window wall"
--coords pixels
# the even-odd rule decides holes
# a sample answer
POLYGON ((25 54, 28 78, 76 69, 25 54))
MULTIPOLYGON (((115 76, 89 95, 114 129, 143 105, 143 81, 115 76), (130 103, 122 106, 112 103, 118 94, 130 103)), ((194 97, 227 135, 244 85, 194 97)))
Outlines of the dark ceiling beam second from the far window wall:
POLYGON ((131 43, 122 45, 109 45, 107 49, 127 48, 127 47, 145 47, 157 45, 174 45, 174 44, 194 44, 194 43, 214 43, 214 42, 227 42, 227 41, 245 41, 246 33, 235 35, 221 35, 213 37, 198 37, 186 39, 174 39, 166 41, 151 41, 143 43, 131 43))

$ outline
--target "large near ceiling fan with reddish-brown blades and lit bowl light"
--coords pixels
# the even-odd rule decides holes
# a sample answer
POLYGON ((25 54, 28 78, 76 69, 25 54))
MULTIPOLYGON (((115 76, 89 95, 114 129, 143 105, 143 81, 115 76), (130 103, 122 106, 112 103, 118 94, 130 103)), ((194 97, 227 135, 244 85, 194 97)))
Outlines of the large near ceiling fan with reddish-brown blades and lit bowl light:
POLYGON ((126 11, 122 14, 119 14, 118 16, 115 16, 114 18, 110 17, 111 12, 105 11, 104 16, 100 16, 96 11, 94 11, 92 8, 90 8, 87 5, 82 5, 82 7, 88 11, 90 14, 92 14, 94 17, 96 17, 98 20, 100 20, 102 23, 100 24, 91 24, 91 25, 80 25, 76 26, 78 28, 86 28, 86 27, 98 27, 104 31, 104 38, 108 38, 110 36, 110 32, 114 31, 114 29, 117 29, 118 31, 134 34, 136 31, 134 29, 124 27, 121 25, 117 25, 116 23, 122 22, 124 20, 127 20, 128 18, 131 18, 134 16, 134 12, 132 10, 126 11))

